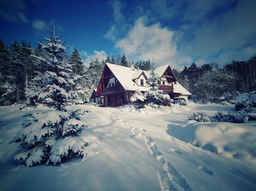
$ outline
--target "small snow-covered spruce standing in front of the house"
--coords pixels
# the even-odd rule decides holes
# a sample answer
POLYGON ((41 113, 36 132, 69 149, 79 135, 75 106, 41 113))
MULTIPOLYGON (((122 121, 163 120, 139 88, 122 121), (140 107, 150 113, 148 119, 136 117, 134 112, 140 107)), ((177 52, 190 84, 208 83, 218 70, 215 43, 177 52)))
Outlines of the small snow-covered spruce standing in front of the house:
POLYGON ((155 68, 152 68, 150 78, 147 79, 147 86, 150 87, 150 90, 144 94, 146 97, 145 103, 170 106, 170 97, 168 94, 164 94, 162 90, 159 90, 159 81, 160 77, 155 73, 155 68))

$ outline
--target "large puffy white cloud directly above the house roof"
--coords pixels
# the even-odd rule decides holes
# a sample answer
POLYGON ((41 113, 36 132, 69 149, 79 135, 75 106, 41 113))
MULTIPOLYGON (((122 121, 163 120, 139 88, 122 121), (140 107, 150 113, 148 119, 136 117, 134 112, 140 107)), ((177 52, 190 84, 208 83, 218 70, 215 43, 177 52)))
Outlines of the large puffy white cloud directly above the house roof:
POLYGON ((174 31, 162 28, 159 23, 145 26, 139 18, 129 34, 117 41, 116 47, 129 58, 154 59, 156 65, 191 62, 191 58, 178 53, 174 36, 174 31))

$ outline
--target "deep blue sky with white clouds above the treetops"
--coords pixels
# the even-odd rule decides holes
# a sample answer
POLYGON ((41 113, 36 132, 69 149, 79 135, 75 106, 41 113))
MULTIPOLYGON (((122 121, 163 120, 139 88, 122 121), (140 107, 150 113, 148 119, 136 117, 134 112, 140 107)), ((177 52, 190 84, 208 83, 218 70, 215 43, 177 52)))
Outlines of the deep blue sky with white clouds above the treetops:
POLYGON ((69 53, 77 47, 85 62, 124 53, 178 69, 223 65, 256 53, 255 7, 253 0, 1 0, 0 37, 36 46, 55 22, 69 53))

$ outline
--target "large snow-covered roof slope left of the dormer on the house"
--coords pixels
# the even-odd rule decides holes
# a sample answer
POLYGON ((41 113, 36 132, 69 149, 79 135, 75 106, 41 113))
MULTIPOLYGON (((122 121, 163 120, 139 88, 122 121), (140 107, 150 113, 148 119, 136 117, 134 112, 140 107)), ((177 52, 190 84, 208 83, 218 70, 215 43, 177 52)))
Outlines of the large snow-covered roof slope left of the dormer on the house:
POLYGON ((119 83, 126 90, 140 90, 146 91, 148 87, 138 86, 132 79, 139 72, 142 73, 143 70, 133 70, 131 67, 124 67, 116 64, 106 63, 106 65, 110 68, 114 76, 117 78, 119 83))

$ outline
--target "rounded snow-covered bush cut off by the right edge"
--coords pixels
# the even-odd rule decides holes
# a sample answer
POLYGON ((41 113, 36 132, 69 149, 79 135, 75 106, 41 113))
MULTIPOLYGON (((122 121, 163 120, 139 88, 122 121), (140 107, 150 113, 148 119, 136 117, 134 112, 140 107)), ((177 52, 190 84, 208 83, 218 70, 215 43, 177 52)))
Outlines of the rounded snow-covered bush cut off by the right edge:
POLYGON ((256 108, 256 91, 243 93, 236 99, 236 109, 256 108))

